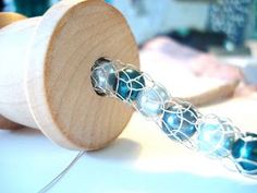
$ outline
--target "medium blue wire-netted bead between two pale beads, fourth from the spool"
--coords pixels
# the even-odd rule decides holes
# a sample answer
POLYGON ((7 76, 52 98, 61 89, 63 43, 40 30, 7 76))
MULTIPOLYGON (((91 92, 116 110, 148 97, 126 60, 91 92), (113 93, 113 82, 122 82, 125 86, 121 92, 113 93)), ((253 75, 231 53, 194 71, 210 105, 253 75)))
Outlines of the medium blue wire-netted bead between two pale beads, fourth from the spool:
POLYGON ((196 132, 195 122, 197 118, 196 111, 187 105, 182 107, 179 105, 170 106, 166 109, 162 118, 162 130, 172 140, 188 140, 196 132))

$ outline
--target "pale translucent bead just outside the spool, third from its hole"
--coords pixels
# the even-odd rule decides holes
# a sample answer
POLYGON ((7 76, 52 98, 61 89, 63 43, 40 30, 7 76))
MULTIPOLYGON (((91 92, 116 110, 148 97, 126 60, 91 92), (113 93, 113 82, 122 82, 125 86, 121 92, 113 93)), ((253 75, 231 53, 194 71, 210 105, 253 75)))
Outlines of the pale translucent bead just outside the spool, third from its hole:
POLYGON ((154 85, 138 94, 135 106, 144 116, 156 117, 163 112, 164 102, 169 99, 169 94, 163 87, 154 85))

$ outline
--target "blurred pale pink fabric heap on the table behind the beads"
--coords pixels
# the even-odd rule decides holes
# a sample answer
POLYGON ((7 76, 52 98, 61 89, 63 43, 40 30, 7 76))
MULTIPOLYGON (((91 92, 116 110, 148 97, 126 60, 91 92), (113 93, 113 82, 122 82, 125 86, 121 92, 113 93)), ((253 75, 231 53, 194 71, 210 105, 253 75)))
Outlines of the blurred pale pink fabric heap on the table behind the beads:
MULTIPOLYGON (((240 81, 241 86, 235 92, 236 96, 248 95, 257 91, 256 86, 245 85, 244 75, 238 67, 223 63, 212 55, 194 50, 164 36, 149 40, 140 49, 140 62, 143 69, 147 71, 148 69, 155 69, 149 70, 149 74, 154 74, 154 77, 155 71, 162 71, 163 76, 170 76, 170 84, 172 82, 175 82, 176 85, 179 84, 179 87, 176 87, 164 83, 164 86, 168 86, 169 89, 175 89, 178 95, 191 95, 191 92, 178 92, 180 85, 180 89, 192 89, 197 84, 197 87, 203 87, 204 92, 208 89, 208 82, 210 85, 215 85, 215 82, 222 84, 240 81)), ((158 81, 163 80, 159 79, 158 81)), ((201 91, 199 89, 199 92, 201 91)), ((195 94, 197 91, 193 91, 193 93, 195 94)))

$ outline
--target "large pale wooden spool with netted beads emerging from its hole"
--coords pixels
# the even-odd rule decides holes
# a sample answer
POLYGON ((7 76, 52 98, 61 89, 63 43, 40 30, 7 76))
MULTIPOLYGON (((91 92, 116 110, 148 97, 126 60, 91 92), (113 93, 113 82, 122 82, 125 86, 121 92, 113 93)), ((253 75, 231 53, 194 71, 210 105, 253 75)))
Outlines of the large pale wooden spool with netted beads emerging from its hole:
POLYGON ((1 28, 0 43, 3 117, 71 149, 105 147, 123 131, 133 110, 96 95, 90 82, 100 57, 138 67, 137 46, 118 10, 103 0, 64 0, 40 17, 1 28))

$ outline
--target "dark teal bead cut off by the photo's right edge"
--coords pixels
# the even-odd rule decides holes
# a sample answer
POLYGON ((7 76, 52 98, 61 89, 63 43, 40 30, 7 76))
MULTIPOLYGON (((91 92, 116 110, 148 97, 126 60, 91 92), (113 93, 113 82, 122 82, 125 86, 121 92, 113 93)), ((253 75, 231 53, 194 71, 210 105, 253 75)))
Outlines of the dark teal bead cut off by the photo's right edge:
POLYGON ((232 156, 245 173, 257 174, 257 137, 247 134, 232 146, 232 156))

